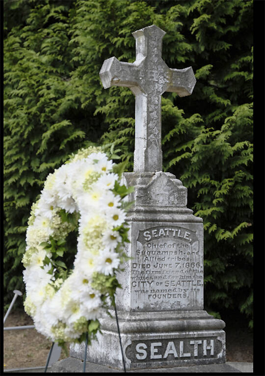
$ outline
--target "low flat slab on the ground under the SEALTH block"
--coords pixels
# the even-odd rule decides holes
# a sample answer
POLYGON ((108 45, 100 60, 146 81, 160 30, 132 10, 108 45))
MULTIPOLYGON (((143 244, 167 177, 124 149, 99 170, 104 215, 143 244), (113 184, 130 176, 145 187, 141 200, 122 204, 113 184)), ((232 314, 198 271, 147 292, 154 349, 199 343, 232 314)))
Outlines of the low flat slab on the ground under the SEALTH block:
MULTIPOLYGON (((66 358, 59 360, 53 364, 49 373, 82 373, 84 363, 77 358, 66 358)), ((86 362, 85 367, 86 373, 119 373, 124 372, 123 370, 117 370, 114 368, 109 368, 102 366, 100 364, 86 362)), ((211 373, 211 374, 220 374, 220 373, 241 373, 238 369, 230 366, 229 364, 207 364, 199 366, 190 366, 190 367, 169 367, 169 368, 157 368, 157 369, 142 369, 142 370, 133 370, 126 372, 149 372, 149 373, 211 373)))

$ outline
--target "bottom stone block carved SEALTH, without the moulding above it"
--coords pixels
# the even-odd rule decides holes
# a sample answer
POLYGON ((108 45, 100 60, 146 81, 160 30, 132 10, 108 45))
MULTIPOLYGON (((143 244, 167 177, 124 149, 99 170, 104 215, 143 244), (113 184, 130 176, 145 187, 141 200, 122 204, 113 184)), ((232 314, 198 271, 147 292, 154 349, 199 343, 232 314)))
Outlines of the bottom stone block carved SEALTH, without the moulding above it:
MULTIPOLYGON (((210 320, 209 320, 210 321, 210 320)), ((127 370, 182 367, 196 364, 225 363, 224 332, 222 330, 187 330, 167 333, 122 333, 122 345, 127 370)), ((102 330, 98 342, 88 349, 93 362, 122 369, 122 357, 117 333, 102 330), (102 351, 102 346, 108 351, 102 351)), ((81 347, 84 351, 84 346, 81 347)), ((70 355, 80 355, 80 348, 71 347, 70 355)))

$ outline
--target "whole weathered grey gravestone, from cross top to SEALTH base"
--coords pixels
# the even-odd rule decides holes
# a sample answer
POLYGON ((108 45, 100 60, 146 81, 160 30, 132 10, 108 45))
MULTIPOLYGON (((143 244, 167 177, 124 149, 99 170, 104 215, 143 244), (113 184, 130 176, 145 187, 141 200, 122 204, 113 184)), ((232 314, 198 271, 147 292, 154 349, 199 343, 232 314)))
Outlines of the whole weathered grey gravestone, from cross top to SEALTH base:
MULTIPOLYGON (((116 298, 127 370, 225 363, 225 323, 203 306, 203 220, 187 209, 182 182, 162 172, 161 94, 189 95, 196 82, 191 67, 164 63, 164 34, 155 25, 133 32, 135 62, 112 57, 100 71, 104 88, 126 86, 135 95, 134 171, 124 174, 135 187, 127 215, 131 259, 116 298)), ((100 321, 87 360, 122 370, 116 320, 100 321)), ((70 346, 72 357, 83 359, 83 352, 84 344, 70 346)))

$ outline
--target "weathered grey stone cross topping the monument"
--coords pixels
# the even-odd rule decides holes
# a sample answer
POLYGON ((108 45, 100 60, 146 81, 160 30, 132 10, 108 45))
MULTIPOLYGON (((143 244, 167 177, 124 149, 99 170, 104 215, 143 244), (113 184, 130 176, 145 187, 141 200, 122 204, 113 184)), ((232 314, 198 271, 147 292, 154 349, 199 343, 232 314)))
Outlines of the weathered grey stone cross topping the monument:
POLYGON ((152 25, 134 31, 136 60, 119 62, 106 59, 100 70, 105 89, 126 86, 135 95, 134 172, 162 171, 161 95, 174 92, 190 95, 196 83, 191 66, 169 68, 162 60, 162 38, 165 31, 152 25))

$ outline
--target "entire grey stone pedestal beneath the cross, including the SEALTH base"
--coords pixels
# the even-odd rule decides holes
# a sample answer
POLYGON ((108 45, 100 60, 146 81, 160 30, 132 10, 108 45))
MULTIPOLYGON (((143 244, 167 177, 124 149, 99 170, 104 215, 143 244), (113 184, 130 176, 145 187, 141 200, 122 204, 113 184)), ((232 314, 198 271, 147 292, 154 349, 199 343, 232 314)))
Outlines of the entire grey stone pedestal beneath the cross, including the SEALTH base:
MULTIPOLYGON (((203 221, 186 208, 187 189, 170 173, 124 174, 134 186, 131 243, 116 306, 127 370, 225 363, 225 323, 203 310, 203 221)), ((87 361, 123 369, 113 318, 88 346, 87 361)), ((83 359, 84 345, 70 347, 83 359)))

